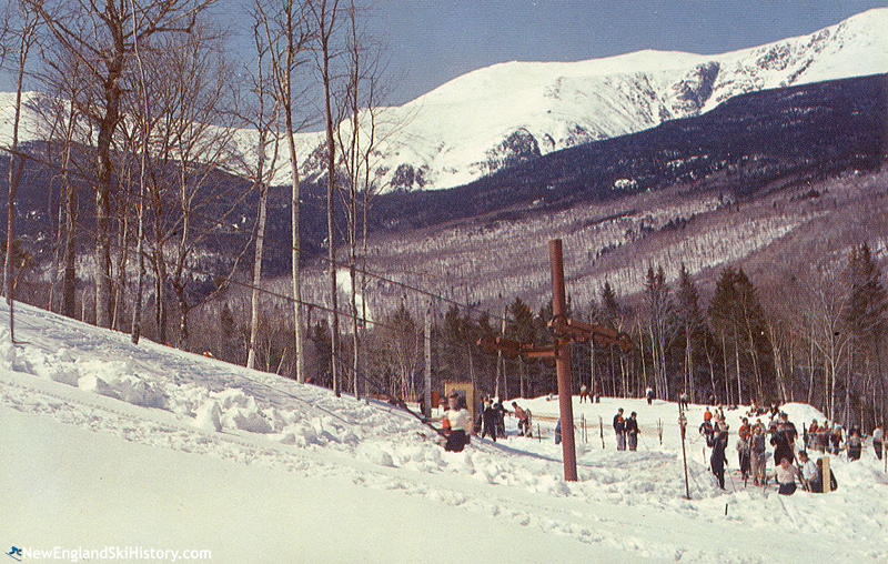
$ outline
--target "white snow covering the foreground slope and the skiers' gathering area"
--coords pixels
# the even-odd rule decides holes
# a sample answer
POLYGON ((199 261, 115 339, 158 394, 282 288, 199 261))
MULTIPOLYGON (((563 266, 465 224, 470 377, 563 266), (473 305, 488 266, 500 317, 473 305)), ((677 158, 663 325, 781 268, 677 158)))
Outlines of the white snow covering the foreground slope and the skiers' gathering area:
MULTIPOLYGON (((718 562, 888 560, 888 480, 871 449, 833 457, 838 491, 722 491, 692 405, 573 397, 578 481, 557 397, 516 400, 534 437, 437 435, 386 403, 335 397, 17 304, 0 305, 0 544, 24 560, 718 562), (610 420, 638 412, 637 452, 610 420), (659 430, 662 432, 662 439, 659 430), (13 547, 19 552, 16 553, 13 547), (102 552, 104 551, 104 552, 102 552)), ((553 383, 554 385, 554 383, 553 383)), ((511 404, 511 401, 506 402, 511 404)), ((801 429, 820 413, 784 410, 801 429)), ((741 410, 728 411, 731 430, 741 410)), ((737 467, 734 444, 728 469, 737 467)))

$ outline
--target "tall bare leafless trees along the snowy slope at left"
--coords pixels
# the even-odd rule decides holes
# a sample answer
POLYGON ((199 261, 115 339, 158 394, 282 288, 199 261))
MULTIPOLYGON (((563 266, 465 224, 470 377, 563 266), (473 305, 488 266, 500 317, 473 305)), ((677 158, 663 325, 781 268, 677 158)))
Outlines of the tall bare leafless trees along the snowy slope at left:
MULTIPOLYGON (((233 283, 248 284, 245 363, 254 366, 268 205, 271 191, 281 189, 273 185, 281 171, 291 180, 291 314, 305 318, 297 151, 314 150, 325 163, 326 312, 339 350, 336 271, 347 269, 352 288, 361 286, 355 273, 366 248, 366 210, 382 188, 371 174, 384 91, 381 47, 354 0, 254 0, 240 8, 246 48, 223 23, 232 21, 222 13, 231 7, 216 0, 8 3, 0 62, 18 78, 12 141, 2 148, 9 170, 3 249, 13 251, 3 252, 3 294, 10 306, 17 291, 32 299, 43 293, 50 309, 130 332, 135 343, 145 334, 194 350, 195 308, 233 283), (41 93, 30 101, 26 80, 41 93), (27 152, 18 142, 26 102, 46 140, 27 152), (295 147, 294 133, 307 123, 323 124, 322 147, 295 147), (54 240, 43 292, 34 290, 43 264, 16 235, 17 223, 31 219, 16 208, 22 170, 39 170, 52 194, 43 218, 54 240), (248 182, 226 181, 225 173, 248 182), (251 218, 241 216, 248 200, 256 201, 251 218), (336 221, 342 215, 344 224, 336 221), (208 256, 211 241, 228 246, 233 259, 208 256), (337 262, 341 241, 344 264, 337 262), (84 261, 88 250, 91 260, 84 261), (240 279, 244 270, 250 280, 240 279)), ((350 296, 353 319, 356 292, 350 296)), ((300 381, 306 325, 291 324, 300 381)))

